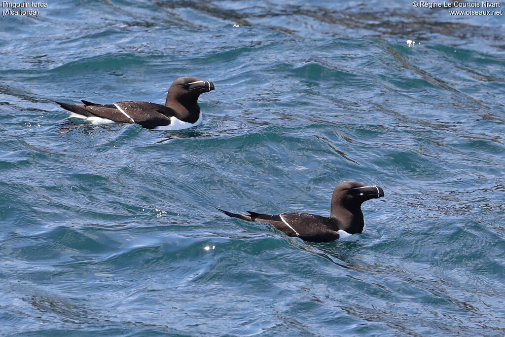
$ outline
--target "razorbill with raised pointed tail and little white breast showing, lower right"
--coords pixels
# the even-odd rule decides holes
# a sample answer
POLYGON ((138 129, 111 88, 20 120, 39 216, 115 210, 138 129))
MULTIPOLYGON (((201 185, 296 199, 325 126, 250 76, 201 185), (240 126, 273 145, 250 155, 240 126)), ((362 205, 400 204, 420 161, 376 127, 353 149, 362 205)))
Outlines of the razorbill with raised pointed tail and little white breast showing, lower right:
POLYGON ((253 222, 268 222, 289 236, 311 242, 330 242, 366 230, 361 204, 370 199, 384 197, 379 186, 368 186, 357 181, 344 181, 333 190, 330 216, 308 213, 281 213, 278 215, 249 212, 248 215, 219 211, 253 222))

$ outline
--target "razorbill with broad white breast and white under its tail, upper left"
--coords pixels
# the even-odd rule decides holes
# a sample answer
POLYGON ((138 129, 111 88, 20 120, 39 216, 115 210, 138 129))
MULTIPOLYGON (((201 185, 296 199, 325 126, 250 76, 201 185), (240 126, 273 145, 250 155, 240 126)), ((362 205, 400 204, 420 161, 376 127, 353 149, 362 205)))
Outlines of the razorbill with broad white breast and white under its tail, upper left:
POLYGON ((63 109, 77 114, 74 117, 137 123, 147 129, 181 130, 201 124, 198 97, 211 90, 214 90, 214 83, 211 81, 184 76, 176 79, 168 89, 165 105, 137 101, 113 104, 82 101, 84 104, 76 105, 56 103, 63 109))

